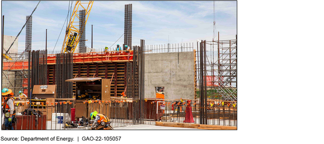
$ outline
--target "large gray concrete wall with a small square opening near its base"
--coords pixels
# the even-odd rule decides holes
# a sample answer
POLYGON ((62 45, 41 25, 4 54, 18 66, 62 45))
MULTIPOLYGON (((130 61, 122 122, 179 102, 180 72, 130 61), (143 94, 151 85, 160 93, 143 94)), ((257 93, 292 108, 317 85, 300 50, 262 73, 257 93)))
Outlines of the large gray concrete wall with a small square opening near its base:
POLYGON ((194 99, 193 52, 145 54, 146 98, 156 97, 155 87, 164 87, 165 99, 194 99))

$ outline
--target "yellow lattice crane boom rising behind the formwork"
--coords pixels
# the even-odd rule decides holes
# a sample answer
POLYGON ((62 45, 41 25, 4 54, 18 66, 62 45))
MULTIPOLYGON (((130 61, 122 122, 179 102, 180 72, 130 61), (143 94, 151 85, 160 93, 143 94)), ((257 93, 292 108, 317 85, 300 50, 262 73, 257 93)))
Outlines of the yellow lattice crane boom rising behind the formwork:
POLYGON ((80 21, 80 13, 79 10, 85 10, 85 23, 87 23, 89 13, 92 8, 93 1, 85 2, 85 1, 76 1, 73 12, 71 14, 69 25, 67 26, 65 32, 65 38, 63 41, 63 46, 61 53, 73 53, 75 48, 77 47, 80 39, 80 31, 79 21, 80 21), (79 9, 80 8, 80 9, 79 9))

